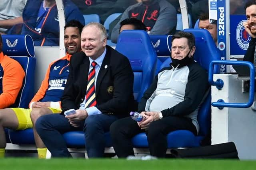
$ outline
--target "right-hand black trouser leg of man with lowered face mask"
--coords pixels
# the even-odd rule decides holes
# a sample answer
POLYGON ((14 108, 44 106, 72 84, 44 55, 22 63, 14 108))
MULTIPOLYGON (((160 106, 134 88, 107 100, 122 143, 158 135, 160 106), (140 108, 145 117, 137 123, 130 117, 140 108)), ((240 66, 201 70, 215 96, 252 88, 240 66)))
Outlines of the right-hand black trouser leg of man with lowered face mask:
POLYGON ((153 121, 148 126, 148 145, 150 154, 157 157, 165 157, 167 150, 166 136, 176 130, 188 130, 197 134, 192 120, 186 117, 169 116, 158 121, 153 121))

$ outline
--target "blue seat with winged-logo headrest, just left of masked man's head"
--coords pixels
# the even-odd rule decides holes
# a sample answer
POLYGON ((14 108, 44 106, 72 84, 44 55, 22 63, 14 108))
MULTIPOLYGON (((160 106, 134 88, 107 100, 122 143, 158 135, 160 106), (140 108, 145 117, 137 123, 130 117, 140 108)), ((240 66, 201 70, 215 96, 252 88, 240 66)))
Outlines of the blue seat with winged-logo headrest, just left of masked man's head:
POLYGON ((172 35, 149 35, 152 45, 156 51, 156 71, 157 75, 162 63, 165 60, 170 61, 170 51, 172 47, 172 35))

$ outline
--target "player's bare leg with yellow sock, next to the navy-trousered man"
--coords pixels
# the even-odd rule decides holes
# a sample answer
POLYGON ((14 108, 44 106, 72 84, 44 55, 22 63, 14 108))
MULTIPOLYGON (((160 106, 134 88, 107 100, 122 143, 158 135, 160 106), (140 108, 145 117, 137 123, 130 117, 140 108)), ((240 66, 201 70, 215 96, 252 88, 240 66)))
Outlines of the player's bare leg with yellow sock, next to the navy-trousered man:
POLYGON ((38 117, 42 115, 48 115, 51 113, 60 113, 61 109, 54 109, 54 108, 33 108, 30 114, 32 123, 33 123, 33 132, 34 132, 34 138, 36 142, 37 152, 38 152, 38 158, 46 158, 46 151, 47 148, 44 146, 44 143, 42 139, 39 137, 38 133, 36 132, 35 123, 38 117))

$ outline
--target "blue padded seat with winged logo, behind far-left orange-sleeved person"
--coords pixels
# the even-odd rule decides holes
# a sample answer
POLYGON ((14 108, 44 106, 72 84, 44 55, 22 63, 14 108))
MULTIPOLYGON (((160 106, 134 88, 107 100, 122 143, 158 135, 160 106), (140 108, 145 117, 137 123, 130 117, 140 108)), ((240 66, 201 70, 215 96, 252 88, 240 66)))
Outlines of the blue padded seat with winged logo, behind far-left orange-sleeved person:
MULTIPOLYGON (((36 66, 35 49, 30 35, 2 35, 3 52, 20 63, 25 71, 22 88, 11 107, 28 108, 34 96, 34 72, 36 66)), ((28 131, 13 131, 5 129, 6 139, 12 144, 34 144, 32 129, 28 131), (29 140, 28 140, 28 139, 29 140)))

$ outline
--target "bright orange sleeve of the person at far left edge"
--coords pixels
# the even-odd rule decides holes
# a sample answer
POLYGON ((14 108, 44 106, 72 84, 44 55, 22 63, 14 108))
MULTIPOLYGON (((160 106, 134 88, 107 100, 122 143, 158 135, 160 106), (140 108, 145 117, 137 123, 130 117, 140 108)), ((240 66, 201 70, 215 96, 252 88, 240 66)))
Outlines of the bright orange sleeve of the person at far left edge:
POLYGON ((3 53, 1 55, 1 65, 4 69, 3 92, 0 94, 0 109, 9 107, 15 100, 22 87, 25 72, 16 60, 9 58, 3 53))

